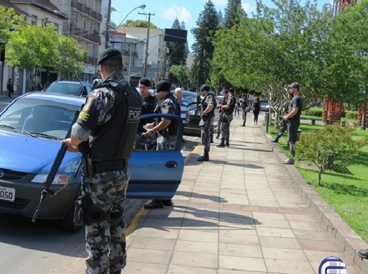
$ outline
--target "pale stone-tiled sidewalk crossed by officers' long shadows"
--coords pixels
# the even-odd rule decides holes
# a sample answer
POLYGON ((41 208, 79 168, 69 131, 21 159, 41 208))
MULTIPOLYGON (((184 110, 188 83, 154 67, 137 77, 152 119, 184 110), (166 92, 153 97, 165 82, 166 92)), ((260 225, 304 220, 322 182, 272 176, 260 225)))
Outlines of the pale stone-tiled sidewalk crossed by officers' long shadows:
POLYGON ((123 273, 317 274, 329 256, 342 259, 349 274, 368 273, 362 259, 362 271, 353 266, 356 250, 346 239, 367 245, 305 182, 292 182, 302 179, 281 164, 285 155, 251 118, 246 127, 233 120, 230 148, 213 144, 210 162, 197 162, 203 148, 196 149, 174 207, 142 209, 128 228, 123 273))

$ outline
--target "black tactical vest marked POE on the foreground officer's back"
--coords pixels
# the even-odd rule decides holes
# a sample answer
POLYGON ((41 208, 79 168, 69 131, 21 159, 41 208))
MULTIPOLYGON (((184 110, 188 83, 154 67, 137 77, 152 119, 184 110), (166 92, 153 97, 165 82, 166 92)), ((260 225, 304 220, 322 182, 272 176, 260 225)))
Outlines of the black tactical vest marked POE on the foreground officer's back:
POLYGON ((128 160, 140 122, 142 96, 124 79, 115 82, 109 77, 98 87, 115 92, 115 105, 110 120, 92 132, 88 154, 98 160, 128 160))

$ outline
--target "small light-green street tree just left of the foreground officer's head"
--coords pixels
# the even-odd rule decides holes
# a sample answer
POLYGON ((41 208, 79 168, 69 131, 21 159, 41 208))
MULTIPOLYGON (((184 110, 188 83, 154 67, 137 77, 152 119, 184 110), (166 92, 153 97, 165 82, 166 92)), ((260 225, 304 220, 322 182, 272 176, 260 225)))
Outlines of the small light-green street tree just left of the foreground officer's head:
POLYGON ((66 75, 81 74, 84 69, 84 62, 87 60, 87 51, 81 45, 76 44, 72 37, 60 35, 56 44, 58 56, 53 62, 53 69, 66 75))

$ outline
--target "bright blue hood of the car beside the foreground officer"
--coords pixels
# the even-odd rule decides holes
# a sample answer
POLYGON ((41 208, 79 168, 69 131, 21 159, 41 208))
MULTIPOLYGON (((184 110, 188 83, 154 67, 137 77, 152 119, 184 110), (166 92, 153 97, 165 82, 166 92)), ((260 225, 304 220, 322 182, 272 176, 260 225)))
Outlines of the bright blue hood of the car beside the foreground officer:
MULTIPOLYGON (((48 173, 60 146, 60 141, 0 130, 0 169, 48 173)), ((67 152, 61 166, 75 156, 67 152)))

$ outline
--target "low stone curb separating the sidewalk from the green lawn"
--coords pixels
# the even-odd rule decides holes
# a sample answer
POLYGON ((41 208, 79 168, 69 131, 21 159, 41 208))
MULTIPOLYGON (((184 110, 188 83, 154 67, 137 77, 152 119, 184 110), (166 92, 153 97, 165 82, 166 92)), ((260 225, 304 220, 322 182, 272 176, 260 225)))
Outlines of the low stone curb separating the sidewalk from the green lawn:
POLYGON ((324 225, 336 243, 342 248, 346 257, 349 257, 362 273, 368 273, 368 260, 358 256, 358 251, 367 249, 368 245, 362 238, 354 232, 349 225, 335 212, 335 210, 322 199, 317 192, 308 185, 301 177, 300 173, 292 165, 283 164, 287 157, 278 144, 271 143, 271 135, 262 130, 267 138, 267 142, 274 153, 276 160, 283 166, 283 170, 290 175, 291 184, 298 192, 299 196, 305 201, 306 205, 312 209, 317 219, 324 225))

